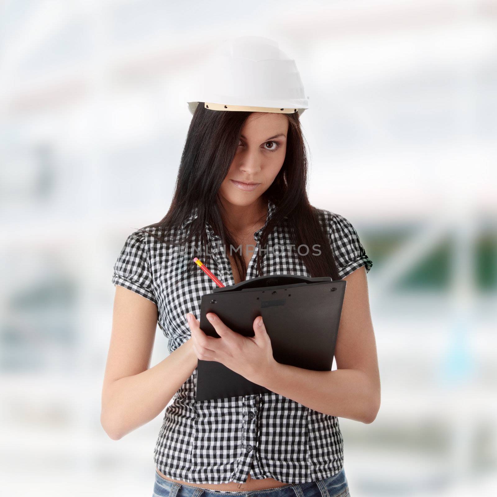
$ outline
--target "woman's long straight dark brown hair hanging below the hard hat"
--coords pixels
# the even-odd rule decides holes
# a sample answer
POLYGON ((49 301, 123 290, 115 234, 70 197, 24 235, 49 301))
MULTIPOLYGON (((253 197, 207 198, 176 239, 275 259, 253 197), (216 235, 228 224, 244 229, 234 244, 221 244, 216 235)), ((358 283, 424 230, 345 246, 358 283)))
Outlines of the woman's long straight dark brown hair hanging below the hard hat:
MULTIPOLYGON (((181 239, 172 237, 168 243, 183 246, 196 240, 200 247, 207 247, 205 224, 209 223, 225 247, 238 246, 223 223, 224 209, 218 190, 228 174, 242 128, 250 114, 251 112, 206 109, 204 102, 198 103, 186 136, 169 210, 161 221, 145 226, 143 231, 147 228, 157 230, 157 236, 149 231, 147 233, 156 236, 163 243, 168 234, 175 233, 180 234, 181 239), (185 230, 181 230, 182 224, 194 209, 197 209, 197 217, 185 230)), ((298 112, 282 115, 289 121, 286 155, 278 175, 262 195, 265 201, 271 200, 275 204, 276 211, 261 233, 260 246, 266 246, 267 238, 276 225, 286 222, 295 247, 309 247, 306 255, 301 255, 298 251, 297 254, 311 276, 331 276, 333 280, 337 280, 338 270, 330 239, 320 223, 318 209, 309 203, 307 197, 308 161, 299 115, 298 112), (285 216, 287 219, 284 219, 285 216), (311 248, 314 244, 319 244, 320 255, 313 253, 311 248)), ((260 276, 263 275, 263 252, 259 250, 257 253, 260 276)), ((240 274, 247 274, 243 256, 236 250, 232 253, 240 274)), ((190 270, 198 269, 193 269, 194 267, 196 268, 194 263, 187 264, 190 270)))

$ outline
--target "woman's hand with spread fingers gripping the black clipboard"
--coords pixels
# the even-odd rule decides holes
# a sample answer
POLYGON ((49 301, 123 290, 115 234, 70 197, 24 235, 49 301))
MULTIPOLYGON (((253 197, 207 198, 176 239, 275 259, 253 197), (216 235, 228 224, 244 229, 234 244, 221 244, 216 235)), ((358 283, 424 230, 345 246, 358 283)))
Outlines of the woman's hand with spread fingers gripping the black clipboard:
POLYGON ((243 336, 228 328, 216 314, 207 313, 206 318, 220 338, 206 335, 193 314, 188 313, 186 318, 198 359, 220 362, 258 385, 270 374, 276 361, 262 316, 257 316, 253 322, 255 335, 243 336))

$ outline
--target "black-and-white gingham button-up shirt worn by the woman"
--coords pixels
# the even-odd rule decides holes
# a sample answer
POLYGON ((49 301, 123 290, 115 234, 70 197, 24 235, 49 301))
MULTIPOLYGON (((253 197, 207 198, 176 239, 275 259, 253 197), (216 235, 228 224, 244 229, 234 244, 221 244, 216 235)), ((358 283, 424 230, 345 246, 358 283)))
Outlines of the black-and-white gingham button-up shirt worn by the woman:
MULTIPOLYGON (((275 206, 269 202, 266 223, 274 212, 275 206)), ((319 215, 340 278, 361 266, 368 272, 372 261, 347 219, 323 209, 319 215)), ((233 285, 227 253, 219 246, 221 239, 209 225, 206 231, 209 257, 202 262, 225 285, 233 285)), ((246 279, 258 276, 255 257, 261 233, 262 228, 254 233, 257 245, 246 279)), ((262 260, 264 274, 310 276, 296 249, 287 248, 290 243, 288 226, 283 220, 269 236, 262 260)), ((157 304, 158 324, 168 338, 170 352, 190 337, 186 313, 200 318, 201 296, 216 288, 200 269, 189 279, 185 277, 187 264, 192 263, 190 255, 135 231, 127 238, 114 265, 112 283, 157 304)), ((314 411, 275 393, 195 402, 196 373, 195 369, 165 410, 154 461, 166 476, 190 483, 219 484, 244 483, 250 473, 254 479, 306 483, 341 470, 343 440, 336 416, 314 411)))

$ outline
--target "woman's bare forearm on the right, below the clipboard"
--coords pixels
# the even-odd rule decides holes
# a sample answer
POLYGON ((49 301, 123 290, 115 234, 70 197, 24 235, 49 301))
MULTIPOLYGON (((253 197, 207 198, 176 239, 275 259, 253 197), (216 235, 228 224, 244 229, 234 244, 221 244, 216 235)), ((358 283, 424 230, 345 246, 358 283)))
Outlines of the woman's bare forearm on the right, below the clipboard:
POLYGON ((379 409, 379 391, 356 369, 314 371, 275 362, 257 381, 310 409, 370 423, 379 409))

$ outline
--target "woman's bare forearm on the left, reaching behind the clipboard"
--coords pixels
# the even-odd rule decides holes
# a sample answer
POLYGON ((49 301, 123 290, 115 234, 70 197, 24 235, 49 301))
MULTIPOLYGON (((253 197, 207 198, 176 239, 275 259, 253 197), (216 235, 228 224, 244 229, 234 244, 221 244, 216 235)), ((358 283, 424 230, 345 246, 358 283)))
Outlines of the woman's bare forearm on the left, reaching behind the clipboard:
POLYGON ((117 440, 160 414, 198 364, 191 338, 154 367, 114 381, 102 395, 101 423, 117 440))

